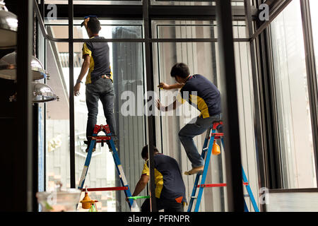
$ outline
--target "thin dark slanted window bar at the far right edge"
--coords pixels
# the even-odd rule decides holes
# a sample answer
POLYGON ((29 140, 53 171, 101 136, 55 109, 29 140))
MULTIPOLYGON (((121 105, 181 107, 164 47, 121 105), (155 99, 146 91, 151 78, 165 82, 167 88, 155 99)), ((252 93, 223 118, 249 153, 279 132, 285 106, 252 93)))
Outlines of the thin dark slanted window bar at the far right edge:
POLYGON ((302 12, 302 30, 305 41, 305 57, 307 69, 307 83, 310 100, 310 113, 312 119, 312 143, 314 145, 314 158, 316 167, 316 179, 318 184, 318 84, 317 71, 314 56, 314 40, 312 37, 312 20, 310 16, 310 2, 300 0, 302 12))

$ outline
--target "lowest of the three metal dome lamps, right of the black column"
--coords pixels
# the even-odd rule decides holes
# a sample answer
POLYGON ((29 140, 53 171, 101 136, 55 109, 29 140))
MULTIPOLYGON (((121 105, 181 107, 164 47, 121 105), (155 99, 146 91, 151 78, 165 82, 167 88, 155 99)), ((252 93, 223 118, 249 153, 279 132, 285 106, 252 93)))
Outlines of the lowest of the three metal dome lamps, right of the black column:
POLYGON ((53 90, 43 83, 32 83, 33 85, 33 102, 49 102, 52 100, 59 100, 53 90))

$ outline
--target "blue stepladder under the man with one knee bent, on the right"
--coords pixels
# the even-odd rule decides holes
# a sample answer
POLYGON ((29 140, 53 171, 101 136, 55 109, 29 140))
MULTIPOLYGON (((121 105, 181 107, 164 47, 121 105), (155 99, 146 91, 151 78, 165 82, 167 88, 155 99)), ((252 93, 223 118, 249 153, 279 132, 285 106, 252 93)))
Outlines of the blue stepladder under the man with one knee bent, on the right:
MULTIPOLYGON (((206 187, 220 187, 220 186, 226 186, 226 184, 205 184, 206 182, 206 174, 208 172, 208 165, 211 159, 211 153, 212 153, 212 148, 213 148, 213 142, 217 139, 220 139, 222 141, 222 145, 224 147, 224 141, 223 141, 223 133, 217 133, 216 131, 218 131, 218 129, 220 128, 220 126, 222 126, 222 121, 218 121, 218 122, 214 122, 213 126, 208 129, 208 131, 206 132, 206 138, 204 140, 204 147, 202 148, 202 153, 201 156, 204 158, 205 162, 204 162, 204 171, 201 173, 196 174, 196 179, 194 181, 194 187, 192 190, 192 195, 191 195, 191 199, 189 201, 189 208, 188 208, 188 212, 191 212, 192 210, 192 206, 194 203, 194 199, 196 199, 196 206, 194 208, 194 212, 198 212, 199 211, 199 207, 200 207, 200 203, 201 203, 201 198, 202 198, 202 194, 204 191, 204 188, 206 187), (211 132, 212 130, 212 132, 211 132), (211 136, 210 136, 211 133, 211 136), (202 176, 202 177, 201 177, 202 176), (199 179, 201 177, 201 184, 199 184, 199 179), (196 189, 199 188, 199 192, 198 192, 198 196, 196 196, 196 189)), ((249 182, 247 180, 245 171, 242 167, 242 179, 243 179, 243 184, 245 185, 246 189, 247 189, 247 196, 249 196, 251 202, 252 202, 252 206, 254 208, 255 212, 259 212, 259 208, 257 206, 257 203, 255 201, 255 198, 253 196, 252 193, 252 189, 249 186, 249 182)), ((244 199, 244 197, 242 197, 244 199)), ((244 199, 244 208, 245 208, 245 212, 248 212, 249 209, 247 208, 247 204, 245 202, 244 199)))

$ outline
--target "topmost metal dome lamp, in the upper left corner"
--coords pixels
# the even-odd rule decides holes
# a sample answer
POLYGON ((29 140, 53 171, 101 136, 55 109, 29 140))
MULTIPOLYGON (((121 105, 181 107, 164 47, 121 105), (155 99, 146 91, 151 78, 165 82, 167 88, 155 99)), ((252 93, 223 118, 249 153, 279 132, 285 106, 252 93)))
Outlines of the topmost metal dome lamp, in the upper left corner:
POLYGON ((4 0, 0 0, 0 49, 16 47, 18 18, 8 11, 4 0))

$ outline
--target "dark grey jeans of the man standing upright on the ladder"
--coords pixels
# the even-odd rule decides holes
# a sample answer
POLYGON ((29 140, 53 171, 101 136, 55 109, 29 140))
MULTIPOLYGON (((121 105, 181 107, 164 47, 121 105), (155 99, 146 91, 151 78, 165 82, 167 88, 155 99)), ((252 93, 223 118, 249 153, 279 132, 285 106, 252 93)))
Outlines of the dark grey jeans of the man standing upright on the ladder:
MULTIPOLYGON (((98 116, 98 100, 102 102, 104 115, 107 124, 110 126, 110 132, 116 136, 116 122, 114 119, 114 85, 107 78, 100 78, 94 83, 86 84, 86 106, 88 109, 88 120, 86 126, 86 137, 88 146, 93 135, 94 126, 98 116)), ((116 138, 113 138, 116 141, 116 138)))

